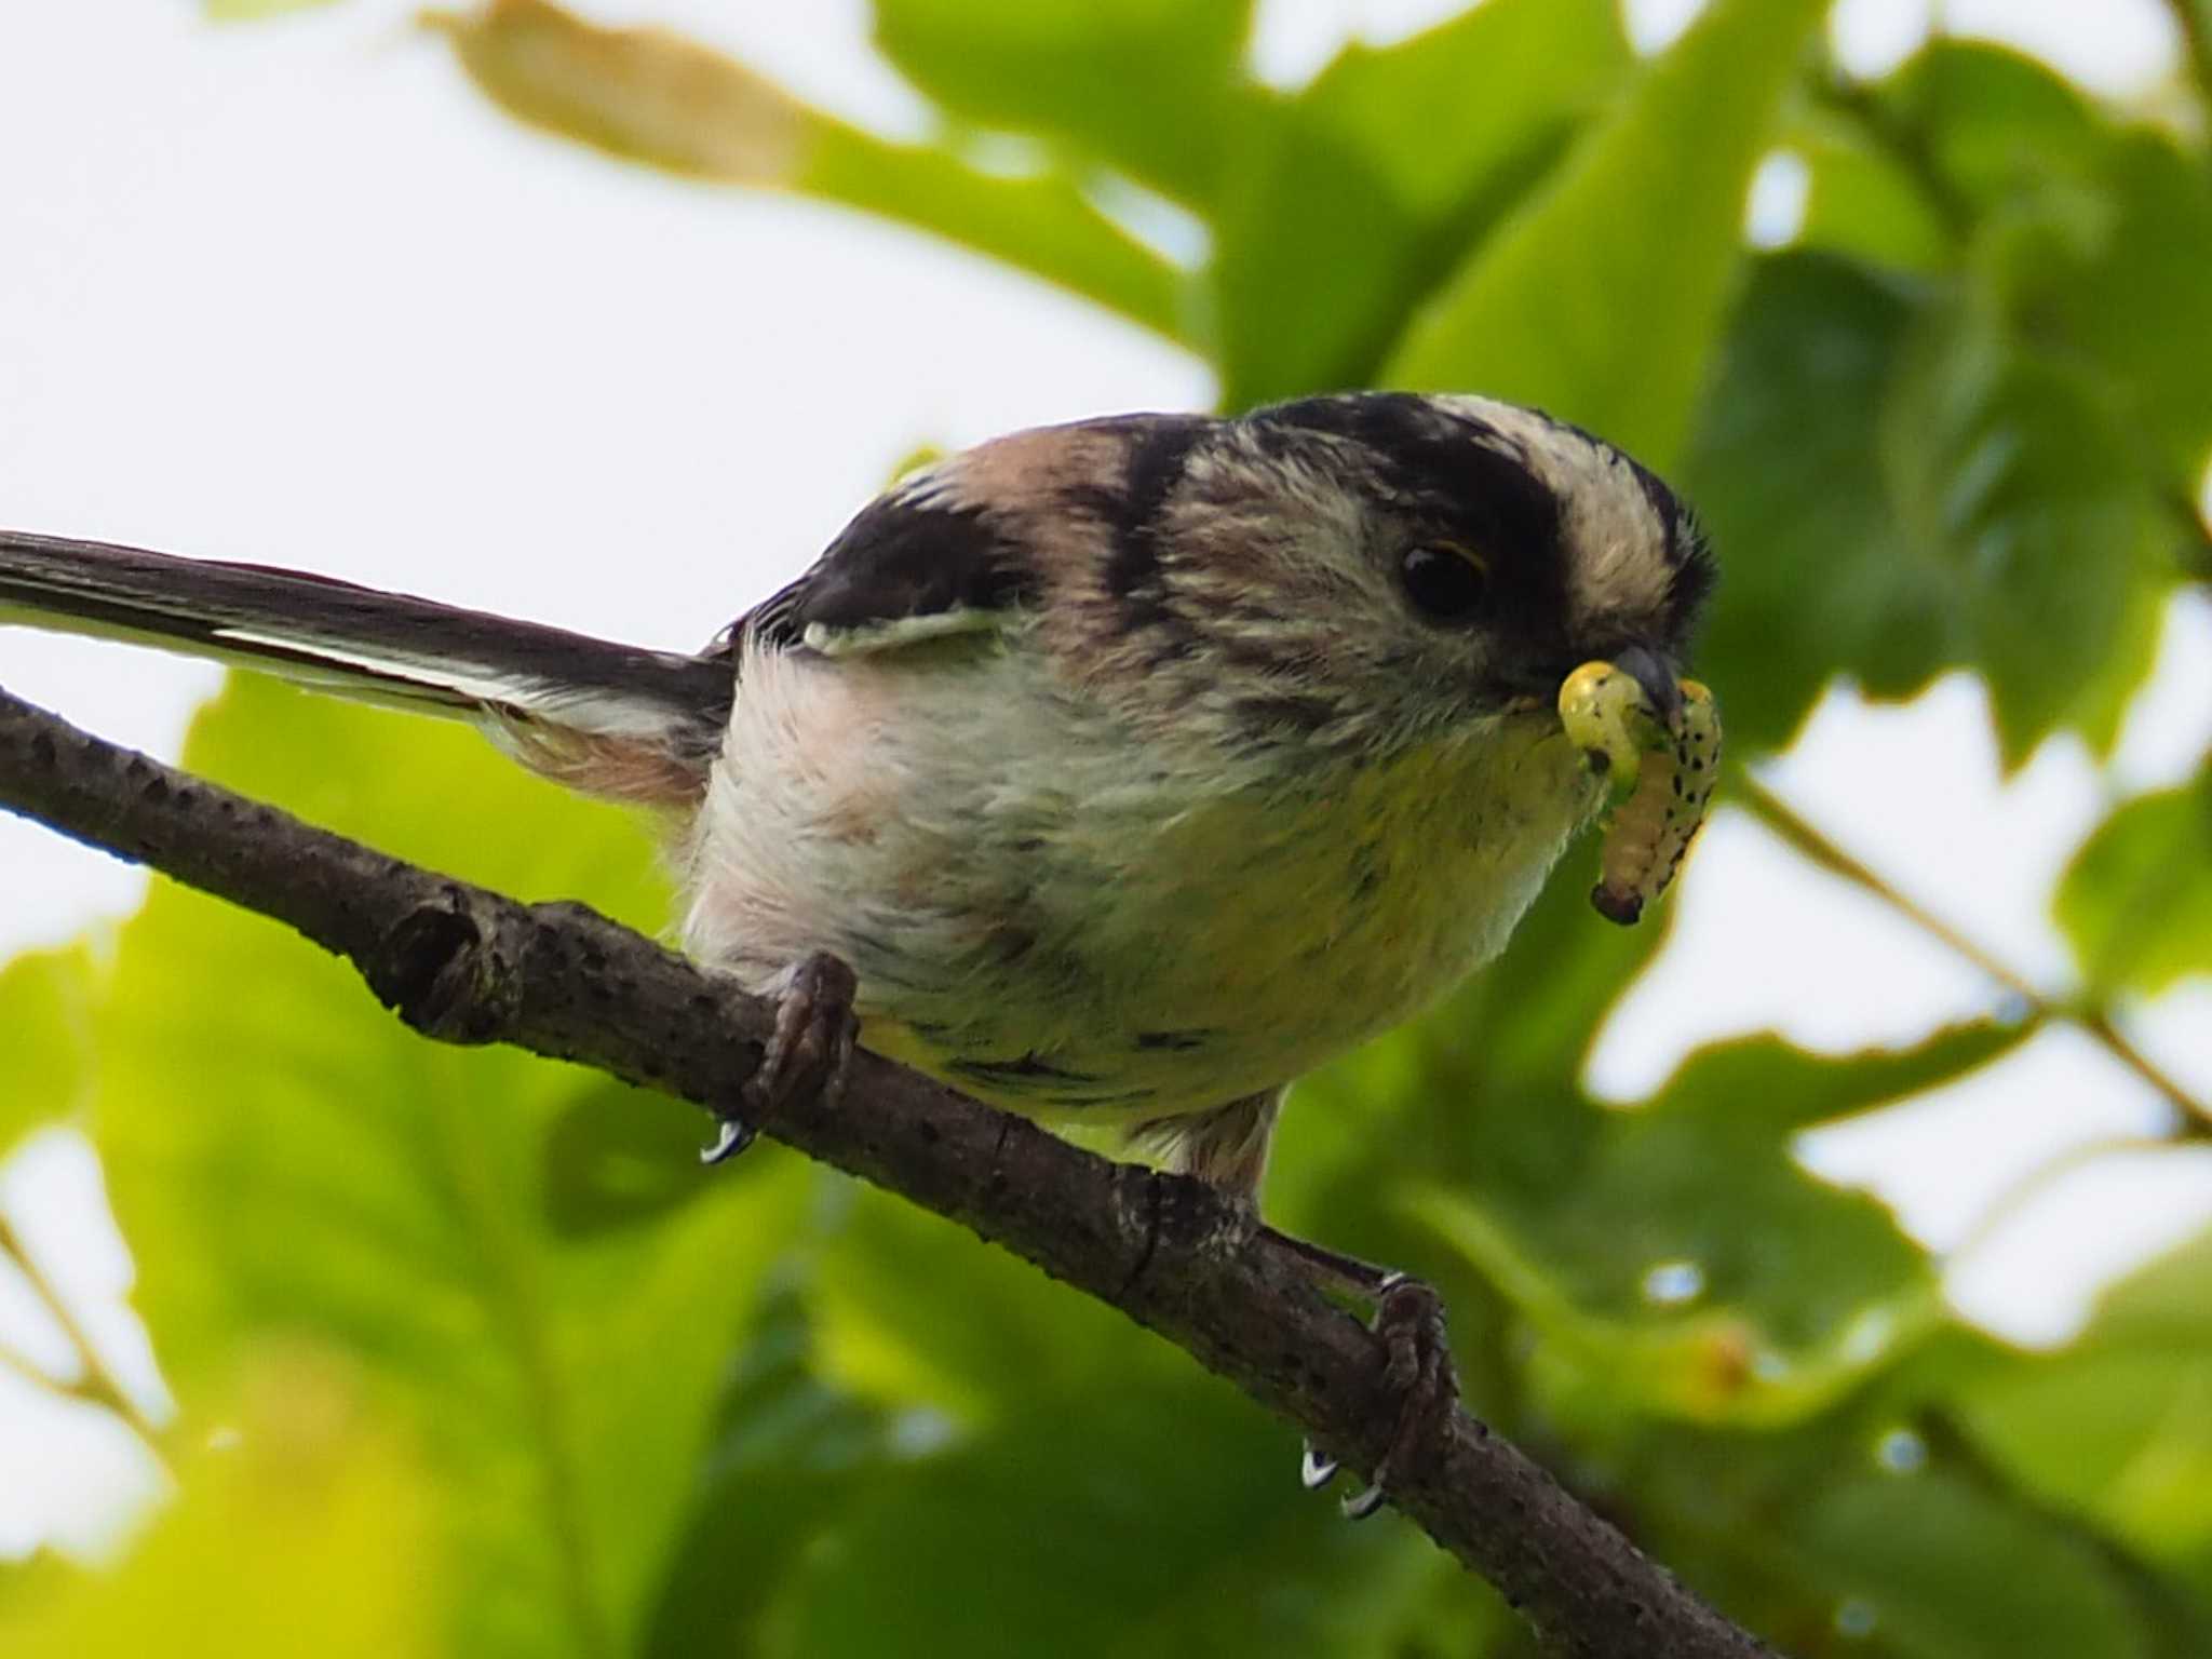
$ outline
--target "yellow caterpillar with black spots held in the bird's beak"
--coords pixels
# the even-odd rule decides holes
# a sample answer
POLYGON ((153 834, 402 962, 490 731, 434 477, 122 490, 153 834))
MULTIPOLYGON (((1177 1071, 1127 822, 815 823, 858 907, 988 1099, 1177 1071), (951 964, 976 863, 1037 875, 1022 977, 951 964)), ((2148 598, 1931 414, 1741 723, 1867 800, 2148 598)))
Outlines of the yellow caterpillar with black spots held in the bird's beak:
POLYGON ((1624 927, 1674 880, 1721 763, 1712 692, 1681 681, 1681 708, 1661 721, 1644 688, 1608 661, 1586 661, 1559 686, 1568 741, 1610 781, 1610 823, 1590 889, 1597 914, 1624 927))

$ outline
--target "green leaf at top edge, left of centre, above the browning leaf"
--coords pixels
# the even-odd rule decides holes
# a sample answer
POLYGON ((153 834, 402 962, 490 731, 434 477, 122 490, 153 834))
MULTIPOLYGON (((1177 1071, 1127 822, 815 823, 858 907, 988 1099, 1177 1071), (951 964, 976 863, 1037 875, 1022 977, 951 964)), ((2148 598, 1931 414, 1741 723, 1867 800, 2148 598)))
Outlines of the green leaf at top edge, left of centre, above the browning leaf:
POLYGON ((1252 0, 874 0, 876 44, 978 126, 1040 133, 1208 206, 1250 88, 1252 0))

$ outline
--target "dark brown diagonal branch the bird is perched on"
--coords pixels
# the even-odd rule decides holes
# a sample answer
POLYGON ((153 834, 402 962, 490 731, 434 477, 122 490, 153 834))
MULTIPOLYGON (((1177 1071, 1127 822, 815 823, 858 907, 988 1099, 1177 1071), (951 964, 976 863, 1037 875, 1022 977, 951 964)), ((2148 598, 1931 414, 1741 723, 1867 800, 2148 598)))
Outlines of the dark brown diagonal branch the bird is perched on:
MULTIPOLYGON (((734 1102, 768 1004, 582 905, 520 905, 314 830, 0 692, 0 807, 292 925, 442 1042, 509 1042, 679 1095, 734 1102)), ((1371 1469, 1396 1400, 1376 1338, 1298 1252, 1212 1190, 1084 1152, 860 1053, 834 1106, 768 1135, 973 1228, 1188 1349, 1371 1469)), ((1285 1449, 1287 1451, 1287 1449, 1285 1449)), ((1767 1652, 1464 1411, 1391 1493, 1546 1646, 1584 1659, 1767 1652)), ((1285 1458, 1283 1502, 1301 1502, 1285 1458)))

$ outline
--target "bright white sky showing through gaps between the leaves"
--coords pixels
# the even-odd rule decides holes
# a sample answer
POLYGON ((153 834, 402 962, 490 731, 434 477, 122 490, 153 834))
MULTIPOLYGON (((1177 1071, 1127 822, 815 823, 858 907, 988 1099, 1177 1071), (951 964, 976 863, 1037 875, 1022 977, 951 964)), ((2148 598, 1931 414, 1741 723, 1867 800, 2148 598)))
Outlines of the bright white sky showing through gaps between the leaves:
MULTIPOLYGON (((887 131, 922 119, 867 55, 854 0, 584 9, 688 27, 887 131)), ((1254 58, 1294 84, 1347 31, 1387 40, 1451 9, 1276 0, 1254 58)), ((1690 9, 1630 13, 1641 42, 1661 42, 1690 9)), ((0 7, 0 522, 688 648, 801 568, 918 442, 1212 400, 1206 367, 1175 347, 918 234, 524 133, 407 27, 411 11, 352 0, 208 29, 184 0, 0 7)), ((1949 15, 2059 53, 2112 93, 2148 88, 2172 53, 2154 0, 1953 0, 1949 15)), ((1845 0, 1836 20, 1869 69, 1924 27, 1913 0, 1845 0)), ((215 675, 7 630, 0 684, 173 757, 215 675)), ((2044 914, 2055 872, 2104 801, 2179 781, 2208 741, 2212 606, 2199 602, 2177 608, 2110 770, 2059 741, 2002 785, 1980 690, 1951 679, 1909 710, 1832 699, 1774 781, 2064 989, 2044 914)), ((0 953, 124 916, 142 887, 0 818, 0 953)), ((1978 973, 1734 814, 1710 827, 1677 902, 1661 969, 1593 1060, 1604 1093, 1646 1093, 1717 1035, 1909 1042, 1993 1004, 1978 973)), ((2137 1011, 2135 1029, 2212 1093, 2212 989, 2137 1011)), ((2066 1033, 1889 1119, 1827 1130, 1807 1155, 1942 1248, 2055 1152, 2161 1121, 2132 1075, 2066 1033)), ((55 1274, 113 1305, 126 1267, 86 1219, 95 1190, 82 1144, 49 1137, 0 1181, 0 1203, 62 1241, 55 1274)), ((2093 1270, 2203 1214, 2203 1159, 2093 1164, 1966 1252, 1953 1292, 2006 1332, 2057 1340, 2093 1270)), ((53 1334, 22 1298, 0 1274, 0 1340, 38 1356, 53 1334)), ((31 1495, 0 1502, 0 1555, 42 1535, 84 1546, 148 1482, 128 1442, 33 1411, 0 1371, 0 1493, 31 1495)))

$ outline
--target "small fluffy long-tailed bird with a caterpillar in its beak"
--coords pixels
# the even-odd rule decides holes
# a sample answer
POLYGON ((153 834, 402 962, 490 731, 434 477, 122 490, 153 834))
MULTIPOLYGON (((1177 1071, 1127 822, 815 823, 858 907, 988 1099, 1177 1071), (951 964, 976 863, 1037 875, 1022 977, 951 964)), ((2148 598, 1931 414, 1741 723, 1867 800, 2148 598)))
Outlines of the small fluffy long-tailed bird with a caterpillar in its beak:
POLYGON ((1655 779, 1701 774, 1599 909, 1663 885, 1710 787, 1681 675, 1712 582, 1694 511, 1615 445, 1411 392, 993 438, 695 655, 0 531, 0 622, 460 717, 650 810, 684 949, 792 1009, 779 1044, 856 1020, 1248 1208, 1287 1086, 1495 960, 1619 799, 1613 703, 1562 719, 1590 664, 1655 779))

